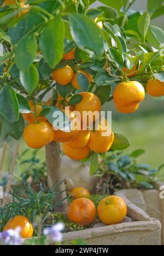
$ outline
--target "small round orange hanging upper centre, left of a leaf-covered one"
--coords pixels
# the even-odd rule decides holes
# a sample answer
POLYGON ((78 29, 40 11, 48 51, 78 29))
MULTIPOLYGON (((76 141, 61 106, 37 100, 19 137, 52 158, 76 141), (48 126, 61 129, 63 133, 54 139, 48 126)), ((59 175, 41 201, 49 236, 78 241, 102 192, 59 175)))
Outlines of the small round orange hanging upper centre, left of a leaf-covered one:
POLYGON ((71 83, 73 78, 73 69, 69 66, 55 69, 52 72, 52 79, 60 85, 67 85, 71 83))

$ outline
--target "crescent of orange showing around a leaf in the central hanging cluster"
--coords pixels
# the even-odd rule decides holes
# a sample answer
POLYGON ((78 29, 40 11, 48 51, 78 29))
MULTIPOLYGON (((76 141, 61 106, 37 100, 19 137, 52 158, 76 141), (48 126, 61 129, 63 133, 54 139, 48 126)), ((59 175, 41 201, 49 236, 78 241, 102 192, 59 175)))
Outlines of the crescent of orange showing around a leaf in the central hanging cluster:
MULTIPOLYGON (((65 112, 65 109, 63 109, 62 111, 65 112)), ((68 118, 71 121, 77 120, 78 129, 75 129, 75 130, 72 129, 69 132, 65 132, 65 131, 61 131, 61 130, 54 131, 54 141, 56 141, 56 142, 68 142, 68 141, 71 141, 71 139, 73 139, 79 133, 80 121, 78 120, 78 118, 76 118, 76 116, 74 115, 73 112, 69 112, 69 114, 67 114, 67 116, 68 116, 68 118)))

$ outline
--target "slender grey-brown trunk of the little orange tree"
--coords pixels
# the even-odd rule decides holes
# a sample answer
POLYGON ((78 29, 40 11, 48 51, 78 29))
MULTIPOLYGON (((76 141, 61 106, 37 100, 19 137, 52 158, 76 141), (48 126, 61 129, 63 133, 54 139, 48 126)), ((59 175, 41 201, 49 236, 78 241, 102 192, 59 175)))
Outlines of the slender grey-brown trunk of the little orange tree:
MULTIPOLYGON (((63 193, 59 194, 57 197, 58 201, 61 201, 66 197, 66 191, 65 191, 65 182, 64 177, 61 173, 61 148, 60 143, 57 143, 55 141, 51 142, 49 145, 45 147, 46 151, 46 165, 48 169, 48 186, 49 188, 52 188, 54 184, 61 183, 61 185, 58 187, 58 192, 60 193, 63 191, 63 193)), ((67 212, 67 200, 62 201, 56 208, 55 211, 58 212, 67 212)))

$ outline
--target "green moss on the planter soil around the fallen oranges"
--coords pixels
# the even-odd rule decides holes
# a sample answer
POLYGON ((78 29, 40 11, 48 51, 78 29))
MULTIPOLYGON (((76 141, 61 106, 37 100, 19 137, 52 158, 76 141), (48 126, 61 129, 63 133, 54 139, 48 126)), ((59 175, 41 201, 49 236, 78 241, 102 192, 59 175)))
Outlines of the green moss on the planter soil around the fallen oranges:
MULTIPOLYGON (((91 195, 89 199, 94 203, 94 205, 98 206, 98 203, 108 195, 91 195)), ((71 197, 68 197, 68 205, 71 203, 73 199, 71 197)), ((99 222, 98 217, 96 216, 96 219, 93 223, 91 223, 88 226, 82 226, 80 224, 70 222, 67 218, 67 215, 64 213, 51 213, 49 218, 46 220, 46 225, 52 226, 58 222, 62 222, 65 224, 65 232, 70 232, 70 231, 79 231, 79 230, 84 230, 84 229, 89 229, 92 228, 93 225, 99 222)))

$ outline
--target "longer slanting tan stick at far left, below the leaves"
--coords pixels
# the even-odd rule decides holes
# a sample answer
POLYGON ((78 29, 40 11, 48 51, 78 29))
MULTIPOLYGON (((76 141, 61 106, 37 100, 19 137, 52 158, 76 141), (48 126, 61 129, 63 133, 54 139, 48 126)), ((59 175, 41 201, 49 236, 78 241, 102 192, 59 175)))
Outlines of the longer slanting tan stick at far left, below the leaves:
MULTIPOLYGON (((16 144, 16 147, 15 147, 15 150, 14 150, 13 161, 12 161, 10 172, 9 172, 10 173, 10 177, 8 178, 7 187, 5 189, 5 194, 9 193, 9 191, 11 189, 11 179, 13 177, 13 172, 14 172, 14 167, 15 167, 15 164, 16 164, 16 158, 17 158, 18 149, 19 149, 19 143, 16 144)), ((6 202, 7 202, 7 199, 4 198, 2 206, 4 206, 6 204, 6 202)))

